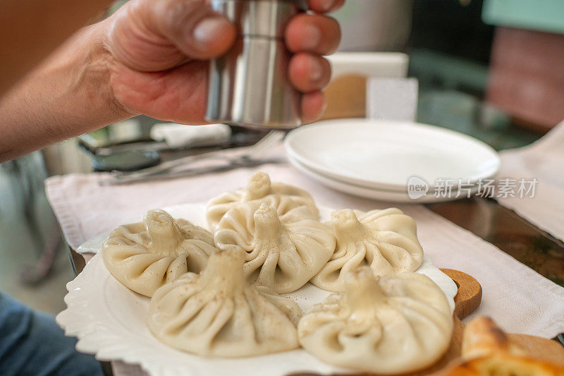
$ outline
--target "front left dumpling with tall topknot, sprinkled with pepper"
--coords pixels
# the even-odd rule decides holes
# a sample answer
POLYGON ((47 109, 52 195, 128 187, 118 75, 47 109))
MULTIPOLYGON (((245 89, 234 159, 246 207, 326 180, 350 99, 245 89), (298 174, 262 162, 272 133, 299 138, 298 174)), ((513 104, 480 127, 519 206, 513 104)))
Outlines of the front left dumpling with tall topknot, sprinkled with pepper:
POLYGON ((217 252, 202 274, 162 286, 149 304, 149 328, 169 346, 236 358, 298 348, 300 306, 245 281, 242 252, 217 252))

